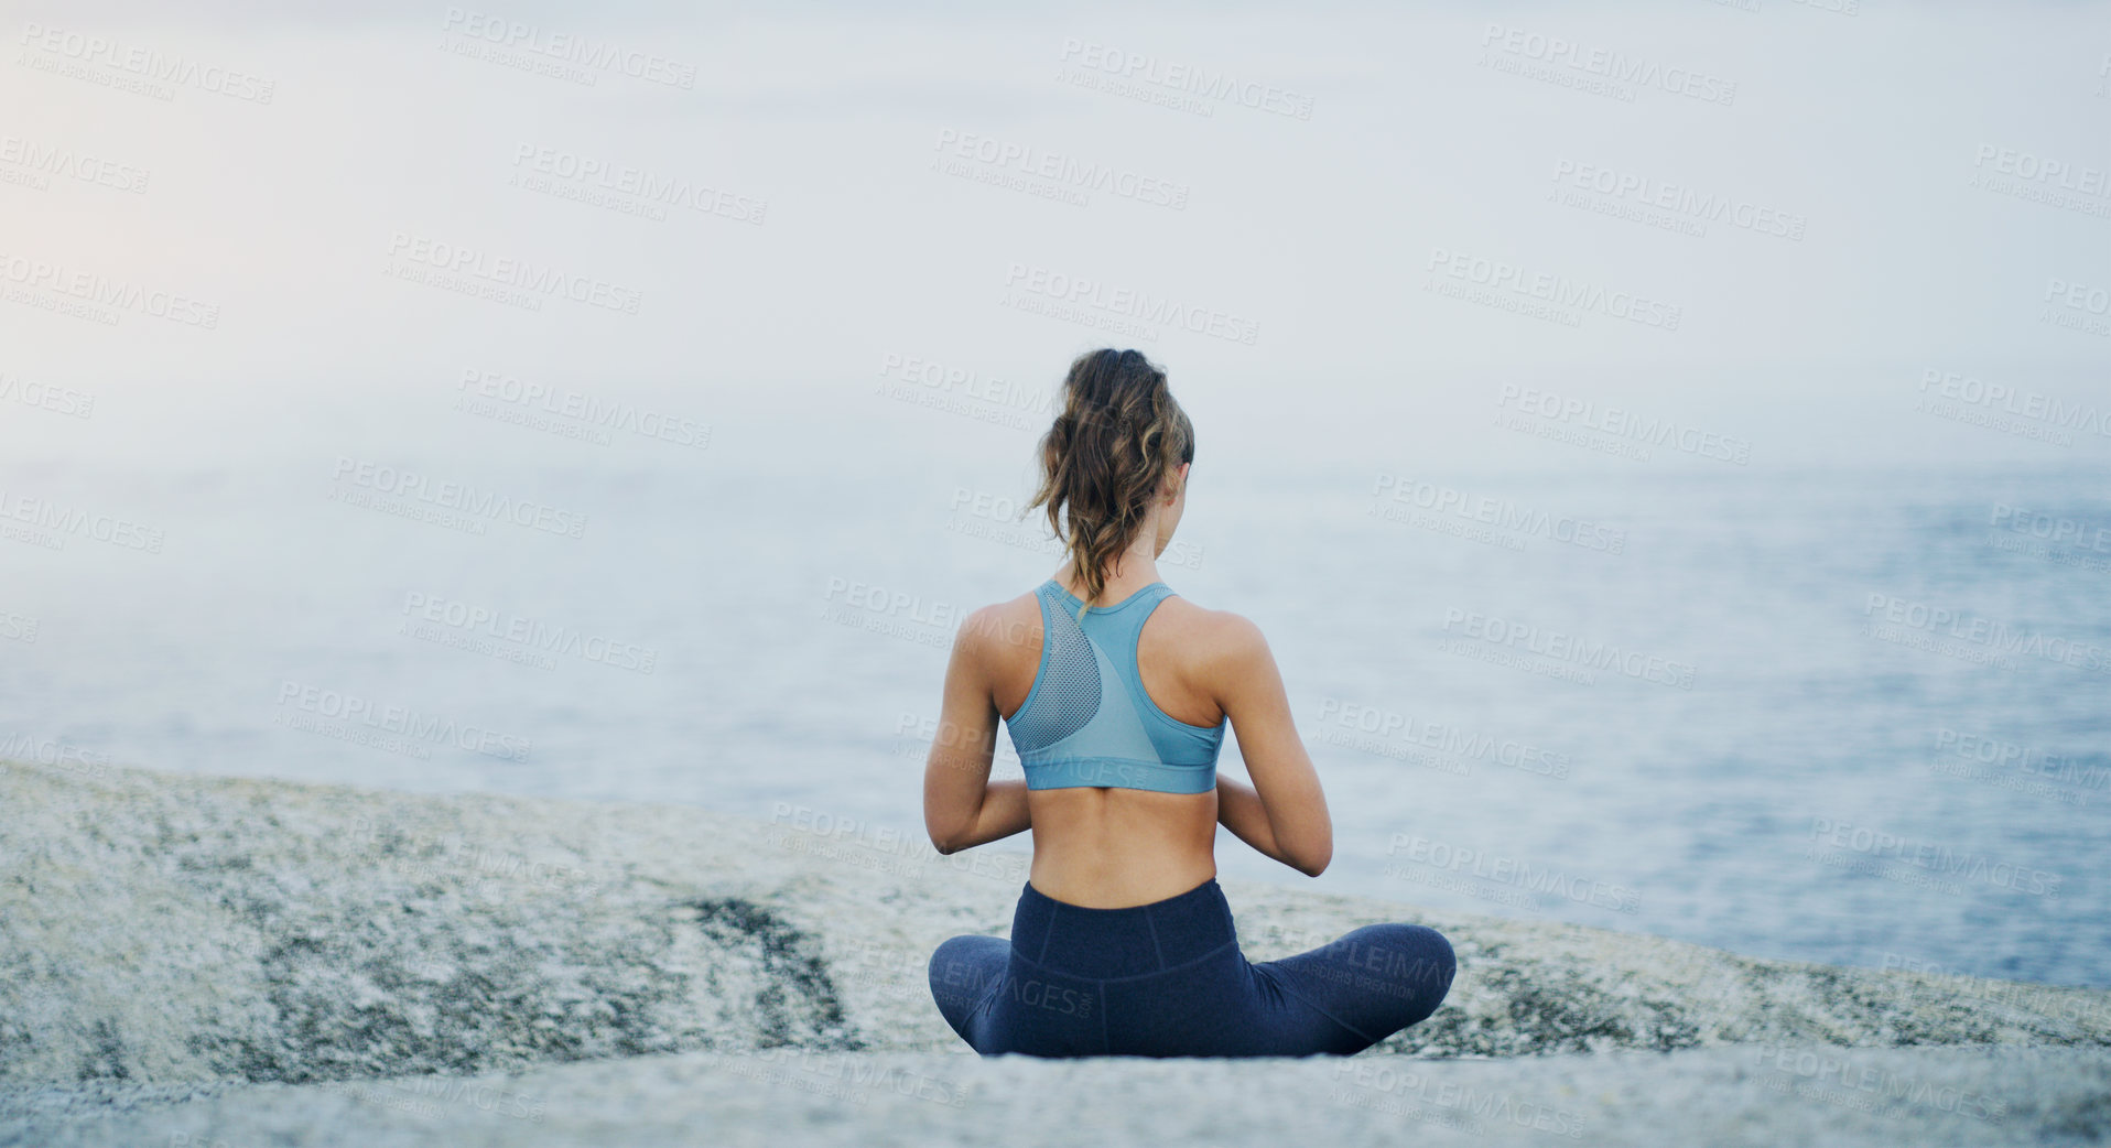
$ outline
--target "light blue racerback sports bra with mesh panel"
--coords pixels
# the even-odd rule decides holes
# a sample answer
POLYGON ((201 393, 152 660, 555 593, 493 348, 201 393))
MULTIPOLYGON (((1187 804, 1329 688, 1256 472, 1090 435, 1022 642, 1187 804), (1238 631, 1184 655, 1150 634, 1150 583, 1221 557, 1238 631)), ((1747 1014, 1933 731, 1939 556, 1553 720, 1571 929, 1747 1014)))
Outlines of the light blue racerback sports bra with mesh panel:
POLYGON ((1216 789, 1224 722, 1169 718, 1136 673, 1136 639, 1172 587, 1150 582, 1115 606, 1083 601, 1049 578, 1041 599, 1041 669, 1020 709, 1005 718, 1028 789, 1112 785, 1157 793, 1216 789))

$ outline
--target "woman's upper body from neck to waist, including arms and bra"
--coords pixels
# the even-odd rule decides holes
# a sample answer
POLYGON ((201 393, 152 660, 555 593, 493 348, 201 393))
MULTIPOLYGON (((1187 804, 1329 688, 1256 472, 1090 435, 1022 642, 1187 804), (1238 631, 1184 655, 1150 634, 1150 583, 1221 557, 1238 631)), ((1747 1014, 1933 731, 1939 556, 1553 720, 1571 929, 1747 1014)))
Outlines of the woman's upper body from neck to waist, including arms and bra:
POLYGON ((1081 907, 1142 905, 1212 880, 1220 823, 1302 874, 1326 869, 1334 850, 1326 793, 1260 629, 1174 595, 1157 578, 1155 551, 1142 547, 1100 599, 1106 606, 1079 610, 1058 574, 963 623, 946 671, 946 736, 925 770, 931 840, 952 853, 1032 829, 1028 880, 1081 907), (1127 627, 1093 625, 1123 614, 1144 616, 1127 627), (1098 711, 1112 699, 1123 713, 1100 715, 1112 732, 1079 726, 1074 715, 1062 722, 1064 705, 1047 696, 1074 694, 1079 677, 1093 677, 1072 671, 1087 656, 1079 650, 1087 629, 1100 633, 1091 665, 1106 673, 1081 701, 1098 711), (1024 783, 986 783, 1001 718, 1026 766, 1024 783), (1125 751, 1117 718, 1131 724, 1125 751), (1157 736, 1144 743, 1153 734, 1134 728, 1153 724, 1157 736), (1224 728, 1239 739, 1252 785, 1216 774, 1224 728), (956 829, 942 831, 946 823, 956 829))

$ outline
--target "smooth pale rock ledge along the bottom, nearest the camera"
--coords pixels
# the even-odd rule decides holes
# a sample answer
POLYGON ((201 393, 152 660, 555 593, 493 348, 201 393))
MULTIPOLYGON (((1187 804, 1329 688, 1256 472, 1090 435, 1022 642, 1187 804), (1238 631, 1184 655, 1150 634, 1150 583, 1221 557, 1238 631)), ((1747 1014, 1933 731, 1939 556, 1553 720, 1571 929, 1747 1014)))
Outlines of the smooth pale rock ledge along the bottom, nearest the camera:
POLYGON ((1687 1049, 1450 1059, 1032 1061, 680 1053, 524 1076, 0 1091, 0 1144, 1915 1146, 2111 1137, 2103 1049, 1687 1049))

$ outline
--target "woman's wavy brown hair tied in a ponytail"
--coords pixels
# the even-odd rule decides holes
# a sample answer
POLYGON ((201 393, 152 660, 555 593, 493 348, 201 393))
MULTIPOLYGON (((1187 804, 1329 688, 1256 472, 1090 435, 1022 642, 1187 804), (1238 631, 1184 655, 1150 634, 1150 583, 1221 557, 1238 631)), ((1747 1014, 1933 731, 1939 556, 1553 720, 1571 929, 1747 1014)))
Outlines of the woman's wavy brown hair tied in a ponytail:
POLYGON ((1195 424, 1165 371, 1140 350, 1089 350, 1070 363, 1064 409, 1041 435, 1041 490, 1026 509, 1047 506, 1085 606, 1106 591, 1106 566, 1136 540, 1150 498, 1182 462, 1195 462, 1195 424))

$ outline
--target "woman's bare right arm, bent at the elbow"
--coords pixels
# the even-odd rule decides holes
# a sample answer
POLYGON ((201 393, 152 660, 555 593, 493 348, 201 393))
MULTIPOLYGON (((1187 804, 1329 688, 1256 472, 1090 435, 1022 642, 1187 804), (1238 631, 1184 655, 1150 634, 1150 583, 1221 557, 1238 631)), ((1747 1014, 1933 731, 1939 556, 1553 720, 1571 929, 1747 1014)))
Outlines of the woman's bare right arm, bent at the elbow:
POLYGON ((1210 680, 1254 783, 1218 777, 1216 819, 1260 855, 1315 878, 1334 859, 1334 821, 1319 772, 1298 739, 1283 675, 1260 627, 1237 614, 1224 618, 1210 680))

